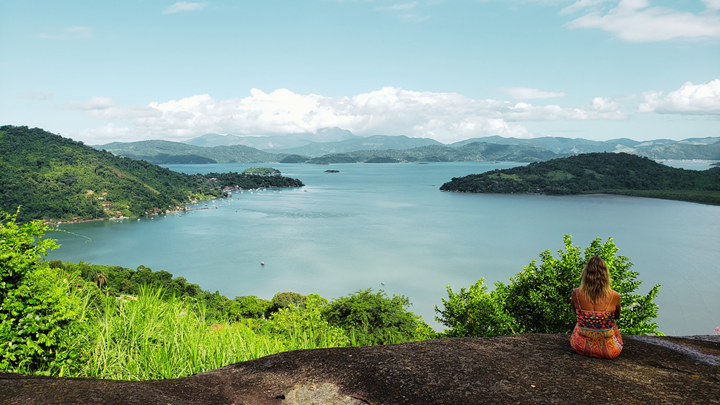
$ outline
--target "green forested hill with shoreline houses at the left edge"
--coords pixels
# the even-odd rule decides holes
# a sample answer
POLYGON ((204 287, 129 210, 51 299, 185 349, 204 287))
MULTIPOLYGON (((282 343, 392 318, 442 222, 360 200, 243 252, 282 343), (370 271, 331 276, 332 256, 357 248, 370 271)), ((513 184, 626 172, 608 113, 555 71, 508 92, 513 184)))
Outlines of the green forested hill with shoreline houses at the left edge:
POLYGON ((218 197, 203 176, 114 156, 40 128, 0 127, 0 209, 20 220, 138 216, 218 197))

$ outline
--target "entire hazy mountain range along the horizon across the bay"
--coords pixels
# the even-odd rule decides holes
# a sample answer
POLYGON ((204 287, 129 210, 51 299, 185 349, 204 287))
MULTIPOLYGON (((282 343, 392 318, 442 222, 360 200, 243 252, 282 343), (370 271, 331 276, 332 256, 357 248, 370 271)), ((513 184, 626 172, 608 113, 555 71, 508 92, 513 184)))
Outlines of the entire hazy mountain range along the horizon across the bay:
POLYGON ((205 134, 185 143, 170 141, 114 142, 94 147, 116 155, 142 159, 155 164, 537 161, 594 152, 625 152, 652 159, 720 160, 720 137, 689 138, 681 141, 656 139, 641 142, 627 138, 593 141, 563 137, 519 139, 489 136, 445 145, 429 138, 388 135, 360 137, 340 128, 325 128, 317 133, 273 136, 205 134), (487 146, 465 148, 474 143, 513 146, 514 148, 503 149, 504 152, 499 154, 495 153, 499 152, 499 149, 488 154, 485 151, 487 146), (482 153, 478 148, 483 149, 482 153), (530 149, 522 151, 522 148, 530 149), (452 149, 456 151, 453 152, 452 149))

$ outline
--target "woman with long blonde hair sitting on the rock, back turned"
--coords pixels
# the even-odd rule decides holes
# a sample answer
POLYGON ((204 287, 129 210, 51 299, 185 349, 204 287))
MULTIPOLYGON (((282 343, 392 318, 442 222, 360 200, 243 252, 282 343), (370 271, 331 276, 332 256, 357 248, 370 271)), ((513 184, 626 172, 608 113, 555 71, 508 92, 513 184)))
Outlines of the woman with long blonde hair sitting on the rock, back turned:
POLYGON ((580 288, 573 290, 572 308, 577 325, 570 344, 579 354, 614 359, 623 347, 615 324, 620 317, 620 294, 610 288, 610 272, 603 259, 593 256, 583 269, 580 288))

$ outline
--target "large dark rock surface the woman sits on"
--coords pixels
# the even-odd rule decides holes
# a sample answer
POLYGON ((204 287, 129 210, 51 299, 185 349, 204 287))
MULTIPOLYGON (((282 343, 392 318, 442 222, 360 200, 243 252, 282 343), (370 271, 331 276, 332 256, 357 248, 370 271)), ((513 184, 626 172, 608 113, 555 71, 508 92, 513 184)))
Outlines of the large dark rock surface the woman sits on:
POLYGON ((0 373, 3 404, 720 403, 720 336, 626 336, 617 359, 568 335, 281 353, 175 380, 0 373))

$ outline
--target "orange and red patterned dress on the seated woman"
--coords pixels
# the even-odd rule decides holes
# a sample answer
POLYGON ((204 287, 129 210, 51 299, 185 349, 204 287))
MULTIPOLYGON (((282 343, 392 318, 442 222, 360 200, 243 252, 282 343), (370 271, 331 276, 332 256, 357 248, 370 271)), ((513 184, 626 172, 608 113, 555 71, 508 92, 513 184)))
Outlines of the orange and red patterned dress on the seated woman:
MULTIPOLYGON (((575 289, 575 297, 580 292, 575 289)), ((612 295, 605 305, 607 309, 612 300, 612 295)), ((620 355, 623 347, 622 336, 615 324, 614 312, 607 311, 585 311, 580 309, 578 298, 575 306, 577 324, 570 335, 570 344, 578 354, 602 359, 614 359, 620 355)))

